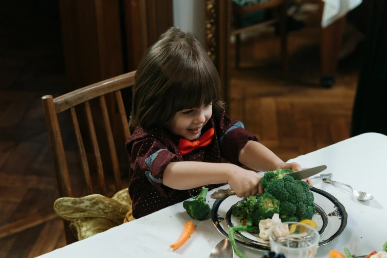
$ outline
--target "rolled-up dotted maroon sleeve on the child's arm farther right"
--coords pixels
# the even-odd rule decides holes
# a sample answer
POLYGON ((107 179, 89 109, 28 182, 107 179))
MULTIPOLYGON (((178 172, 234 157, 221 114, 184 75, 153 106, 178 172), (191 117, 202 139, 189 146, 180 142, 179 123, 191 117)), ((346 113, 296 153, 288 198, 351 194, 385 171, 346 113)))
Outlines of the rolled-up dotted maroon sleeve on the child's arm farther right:
POLYGON ((258 141, 258 138, 247 131, 242 122, 231 120, 223 111, 220 118, 215 121, 217 135, 219 135, 219 148, 221 156, 232 164, 241 166, 238 161, 239 152, 248 141, 258 141))

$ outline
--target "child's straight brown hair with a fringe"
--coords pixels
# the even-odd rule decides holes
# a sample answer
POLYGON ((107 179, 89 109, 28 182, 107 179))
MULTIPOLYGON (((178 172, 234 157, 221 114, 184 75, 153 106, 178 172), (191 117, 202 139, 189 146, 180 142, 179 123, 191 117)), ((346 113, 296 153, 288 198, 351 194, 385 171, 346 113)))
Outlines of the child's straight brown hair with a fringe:
POLYGON ((129 126, 166 127, 176 112, 213 103, 224 108, 213 61, 191 33, 170 28, 145 52, 135 74, 129 126))

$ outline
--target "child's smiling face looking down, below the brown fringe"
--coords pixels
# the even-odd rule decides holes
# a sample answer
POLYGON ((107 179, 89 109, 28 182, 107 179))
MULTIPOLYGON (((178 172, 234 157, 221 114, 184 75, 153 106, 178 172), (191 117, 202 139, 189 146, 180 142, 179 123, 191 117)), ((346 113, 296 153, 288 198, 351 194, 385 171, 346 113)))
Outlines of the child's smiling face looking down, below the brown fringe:
POLYGON ((187 140, 194 140, 213 114, 212 103, 200 108, 183 109, 177 112, 168 129, 175 135, 187 140))

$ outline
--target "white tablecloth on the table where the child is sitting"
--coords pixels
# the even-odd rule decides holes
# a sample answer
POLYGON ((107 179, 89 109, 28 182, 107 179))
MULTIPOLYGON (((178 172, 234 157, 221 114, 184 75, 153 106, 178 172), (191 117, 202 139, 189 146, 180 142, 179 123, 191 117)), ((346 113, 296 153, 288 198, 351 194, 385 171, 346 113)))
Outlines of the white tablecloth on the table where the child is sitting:
MULTIPOLYGON (((320 247, 317 258, 326 258, 329 250, 333 249, 343 252, 344 247, 358 256, 382 250, 382 245, 387 241, 386 158, 387 136, 366 133, 292 160, 303 167, 325 164, 328 169, 322 173, 333 173, 334 180, 372 193, 375 197, 369 202, 359 202, 345 186, 314 180, 316 188, 334 195, 348 213, 347 226, 342 235, 320 247)), ((54 250, 42 258, 208 257, 216 243, 223 239, 211 219, 194 221, 196 230, 192 237, 176 251, 170 250, 169 246, 179 237, 184 222, 188 220, 191 220, 190 217, 179 203, 54 250)), ((238 249, 249 258, 263 255, 243 246, 238 246, 238 249)))

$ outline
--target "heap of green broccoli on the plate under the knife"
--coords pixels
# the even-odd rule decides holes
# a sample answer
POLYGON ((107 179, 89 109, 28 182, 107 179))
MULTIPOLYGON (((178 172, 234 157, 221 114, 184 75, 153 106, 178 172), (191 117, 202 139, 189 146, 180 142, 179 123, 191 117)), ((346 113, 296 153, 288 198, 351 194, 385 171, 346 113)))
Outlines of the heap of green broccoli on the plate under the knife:
POLYGON ((246 226, 257 227, 261 219, 271 218, 275 213, 282 222, 312 219, 316 213, 313 193, 307 182, 287 175, 292 172, 287 169, 265 172, 261 178, 264 193, 257 199, 250 196, 240 202, 232 215, 241 220, 246 218, 246 226))

